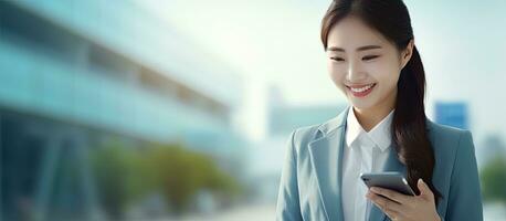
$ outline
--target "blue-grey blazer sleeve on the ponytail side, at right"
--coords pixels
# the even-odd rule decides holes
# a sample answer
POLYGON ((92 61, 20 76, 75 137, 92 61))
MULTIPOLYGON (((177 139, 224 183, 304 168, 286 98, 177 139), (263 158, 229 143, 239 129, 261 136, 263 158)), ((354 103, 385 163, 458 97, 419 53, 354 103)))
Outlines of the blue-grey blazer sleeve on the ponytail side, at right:
POLYGON ((456 149, 445 220, 483 220, 478 170, 470 131, 461 135, 456 149))

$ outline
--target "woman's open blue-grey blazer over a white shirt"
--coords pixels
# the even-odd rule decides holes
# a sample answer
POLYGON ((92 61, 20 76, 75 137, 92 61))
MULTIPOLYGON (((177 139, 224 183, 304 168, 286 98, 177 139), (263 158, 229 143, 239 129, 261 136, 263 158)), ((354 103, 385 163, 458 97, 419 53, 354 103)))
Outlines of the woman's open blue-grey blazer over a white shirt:
MULTIPOLYGON (((349 107, 348 107, 349 108, 349 107)), ((282 171, 277 197, 276 220, 342 221, 341 169, 348 109, 337 117, 292 133, 282 171)), ((468 130, 426 120, 429 138, 434 149, 434 187, 442 193, 438 213, 443 220, 483 220, 479 178, 473 138, 468 130)), ((394 148, 383 171, 405 167, 394 148)), ((390 220, 376 206, 369 221, 390 220)))

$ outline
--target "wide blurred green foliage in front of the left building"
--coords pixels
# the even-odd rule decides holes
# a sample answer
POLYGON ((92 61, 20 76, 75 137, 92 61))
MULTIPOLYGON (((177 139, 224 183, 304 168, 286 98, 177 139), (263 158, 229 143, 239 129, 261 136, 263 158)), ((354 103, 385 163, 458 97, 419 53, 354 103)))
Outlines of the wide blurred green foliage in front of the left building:
POLYGON ((149 144, 141 148, 112 143, 92 151, 101 203, 112 219, 122 219, 130 204, 161 192, 168 211, 180 214, 201 190, 218 201, 240 196, 239 182, 219 168, 212 157, 179 144, 149 144))

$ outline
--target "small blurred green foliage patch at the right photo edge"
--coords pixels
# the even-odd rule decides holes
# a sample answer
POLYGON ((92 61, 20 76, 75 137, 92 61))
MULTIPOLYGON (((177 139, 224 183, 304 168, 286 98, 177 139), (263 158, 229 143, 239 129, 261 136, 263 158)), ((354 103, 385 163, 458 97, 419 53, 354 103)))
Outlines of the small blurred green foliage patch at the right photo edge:
POLYGON ((486 164, 481 179, 485 200, 506 202, 506 157, 498 156, 486 164))

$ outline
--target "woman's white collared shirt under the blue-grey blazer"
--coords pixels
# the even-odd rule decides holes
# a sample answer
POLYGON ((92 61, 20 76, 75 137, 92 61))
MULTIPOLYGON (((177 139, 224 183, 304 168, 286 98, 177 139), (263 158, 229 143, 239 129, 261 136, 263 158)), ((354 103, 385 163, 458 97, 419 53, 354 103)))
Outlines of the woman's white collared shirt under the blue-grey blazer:
POLYGON ((354 107, 348 108, 341 189, 345 221, 369 219, 371 203, 366 198, 368 188, 359 176, 382 170, 391 145, 392 117, 393 110, 367 133, 358 123, 354 107))

